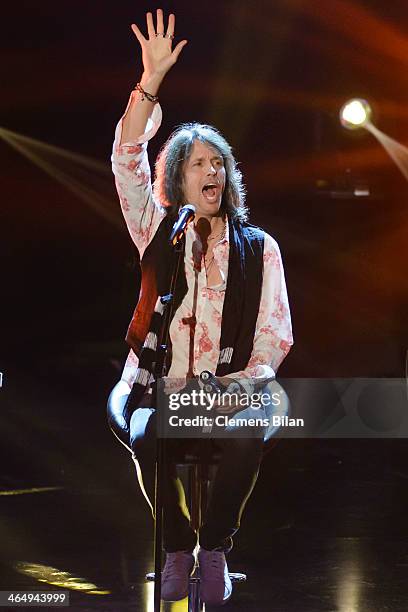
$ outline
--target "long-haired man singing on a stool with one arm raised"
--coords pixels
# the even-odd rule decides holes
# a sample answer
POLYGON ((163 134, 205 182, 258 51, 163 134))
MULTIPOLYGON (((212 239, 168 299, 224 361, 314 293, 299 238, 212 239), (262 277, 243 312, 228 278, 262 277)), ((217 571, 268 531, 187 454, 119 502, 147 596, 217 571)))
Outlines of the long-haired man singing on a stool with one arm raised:
MULTIPOLYGON (((135 384, 147 390, 128 425, 129 447, 151 507, 156 411, 146 354, 156 348, 152 320, 157 296, 169 287, 169 235, 180 207, 193 204, 196 214, 185 233, 170 325, 168 379, 193 379, 208 370, 224 386, 236 381, 240 389, 260 388, 273 379, 293 343, 279 248, 266 232, 247 223, 241 173, 223 136, 208 125, 178 127, 156 160, 152 187, 147 142, 161 123, 158 93, 187 44, 183 40, 172 48, 174 28, 175 17, 170 15, 165 29, 160 9, 156 27, 147 13, 147 38, 132 25, 142 50, 143 74, 117 126, 112 155, 121 207, 142 269, 142 288, 127 334, 131 350, 120 385, 125 392, 135 384)), ((220 605, 231 596, 225 555, 258 475, 263 437, 236 435, 215 441, 222 456, 199 534, 190 526, 176 471, 178 449, 191 442, 167 440, 162 597, 186 597, 199 540, 201 598, 220 605)))

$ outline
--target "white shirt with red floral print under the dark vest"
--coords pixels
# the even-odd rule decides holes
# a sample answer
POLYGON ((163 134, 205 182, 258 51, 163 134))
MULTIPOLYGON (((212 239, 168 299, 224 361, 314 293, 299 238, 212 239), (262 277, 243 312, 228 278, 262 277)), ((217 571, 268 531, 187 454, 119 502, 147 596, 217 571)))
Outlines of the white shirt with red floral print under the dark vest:
MULTIPOLYGON (((156 104, 145 134, 134 142, 120 144, 121 119, 113 145, 112 168, 116 188, 129 233, 140 258, 165 215, 165 209, 155 201, 152 193, 147 156, 147 142, 157 132, 161 119, 161 108, 156 104)), ((185 249, 188 291, 170 327, 173 354, 169 378, 182 379, 199 375, 203 370, 216 370, 228 278, 228 223, 224 235, 214 246, 213 255, 222 282, 209 287, 201 241, 193 224, 190 224, 186 231, 185 249)), ((276 241, 267 233, 263 260, 261 303, 252 355, 245 370, 228 375, 229 378, 239 379, 241 384, 244 379, 250 383, 251 379, 253 382, 262 382, 272 378, 293 344, 282 259, 276 241)), ((137 356, 130 350, 122 374, 122 379, 129 386, 133 384, 137 366, 137 356)))

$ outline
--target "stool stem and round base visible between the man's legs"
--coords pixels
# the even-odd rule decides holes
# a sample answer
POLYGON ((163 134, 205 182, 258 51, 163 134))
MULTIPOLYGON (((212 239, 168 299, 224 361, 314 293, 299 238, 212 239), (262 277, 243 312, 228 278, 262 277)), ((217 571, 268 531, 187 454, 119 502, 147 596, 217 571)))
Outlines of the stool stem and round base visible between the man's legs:
MULTIPOLYGON (((211 440, 201 440, 204 442, 204 451, 201 453, 189 452, 177 462, 178 466, 188 467, 188 499, 191 526, 198 531, 201 525, 201 518, 207 507, 208 485, 210 482, 210 466, 218 463, 220 452, 215 449, 211 440)), ((245 582, 246 574, 240 572, 229 572, 231 582, 245 582)), ((146 574, 146 580, 154 582, 154 572, 146 574)), ((196 567, 190 576, 188 589, 188 612, 202 612, 205 604, 200 598, 200 573, 196 567)))

